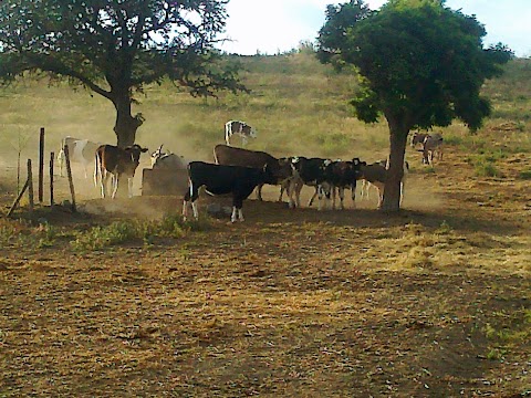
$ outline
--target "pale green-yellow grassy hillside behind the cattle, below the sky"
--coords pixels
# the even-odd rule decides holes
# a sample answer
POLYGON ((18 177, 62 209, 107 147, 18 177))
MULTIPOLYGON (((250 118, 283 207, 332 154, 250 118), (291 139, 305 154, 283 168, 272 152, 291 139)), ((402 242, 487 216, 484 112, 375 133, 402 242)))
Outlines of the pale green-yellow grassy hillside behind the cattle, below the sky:
MULTIPOLYGON (((147 87, 134 109, 146 117, 137 142, 150 148, 164 143, 175 153, 208 159, 212 146, 222 142, 225 122, 236 118, 257 127, 259 138, 251 148, 279 156, 363 156, 372 160, 386 155, 386 124, 365 125, 352 117, 347 104, 356 86, 352 75, 335 74, 308 53, 244 56, 241 62, 247 70, 241 76, 251 94, 222 94, 219 100, 205 101, 170 84, 147 87)), ((486 84, 494 113, 478 136, 506 122, 514 123, 519 133, 530 130, 530 74, 531 61, 516 60, 507 65, 503 77, 486 84)), ((4 159, 12 158, 18 148, 22 158, 31 157, 41 126, 48 130, 51 149, 58 148, 65 135, 115 143, 112 104, 85 91, 74 92, 66 84, 24 81, 0 88, 0 109, 4 150, 0 155, 4 159)), ((445 133, 467 137, 459 123, 445 133)))

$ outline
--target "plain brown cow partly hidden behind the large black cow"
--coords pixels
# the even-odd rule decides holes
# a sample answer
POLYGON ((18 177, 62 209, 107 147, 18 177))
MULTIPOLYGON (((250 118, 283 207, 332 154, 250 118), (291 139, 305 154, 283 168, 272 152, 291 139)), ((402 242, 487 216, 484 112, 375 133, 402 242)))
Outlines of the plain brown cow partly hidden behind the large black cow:
MULTIPOLYGON (((277 177, 275 185, 282 184, 283 180, 292 176, 291 164, 287 159, 277 159, 268 153, 261 150, 249 150, 235 148, 227 145, 216 145, 214 148, 214 159, 218 165, 243 166, 263 168, 268 165, 269 169, 277 177)), ((262 200, 263 184, 257 187, 257 198, 262 200)))

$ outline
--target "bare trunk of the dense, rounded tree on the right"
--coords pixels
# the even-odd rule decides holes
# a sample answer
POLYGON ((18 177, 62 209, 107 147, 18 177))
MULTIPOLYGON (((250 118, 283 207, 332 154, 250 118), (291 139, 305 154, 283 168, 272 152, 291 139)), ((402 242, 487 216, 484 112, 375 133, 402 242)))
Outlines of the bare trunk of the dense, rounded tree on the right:
POLYGON ((388 178, 385 182, 382 210, 398 211, 400 210, 400 181, 404 176, 404 155, 406 153, 408 130, 407 128, 393 123, 389 123, 389 169, 388 178))

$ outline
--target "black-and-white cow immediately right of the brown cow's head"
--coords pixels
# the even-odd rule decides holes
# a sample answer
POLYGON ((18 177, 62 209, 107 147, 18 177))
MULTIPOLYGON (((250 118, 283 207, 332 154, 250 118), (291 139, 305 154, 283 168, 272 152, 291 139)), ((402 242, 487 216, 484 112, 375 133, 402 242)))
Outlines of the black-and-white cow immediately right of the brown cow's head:
MULTIPOLYGON (((296 156, 291 158, 293 177, 290 180, 288 196, 290 198, 290 208, 301 207, 301 190, 304 185, 315 188, 315 192, 308 202, 312 206, 315 197, 319 198, 317 209, 321 210, 324 198, 330 199, 331 186, 326 182, 325 169, 331 163, 330 159, 306 158, 296 156), (295 198, 293 199, 293 195, 295 198)), ((281 193, 282 195, 282 193, 281 193)))

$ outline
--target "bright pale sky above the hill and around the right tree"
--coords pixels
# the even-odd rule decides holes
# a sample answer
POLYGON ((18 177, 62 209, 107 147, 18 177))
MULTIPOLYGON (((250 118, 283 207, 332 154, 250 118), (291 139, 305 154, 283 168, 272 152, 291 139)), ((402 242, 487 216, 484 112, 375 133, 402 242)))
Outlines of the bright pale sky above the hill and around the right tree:
MULTIPOLYGON (((277 54, 314 41, 325 22, 326 4, 347 0, 230 0, 221 49, 238 54, 277 54)), ((378 9, 386 0, 365 1, 378 9)), ((483 45, 501 42, 517 56, 531 56, 531 0, 447 0, 446 7, 475 14, 487 30, 483 45)))

